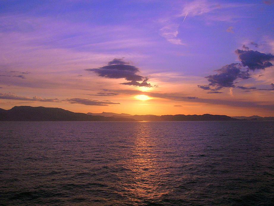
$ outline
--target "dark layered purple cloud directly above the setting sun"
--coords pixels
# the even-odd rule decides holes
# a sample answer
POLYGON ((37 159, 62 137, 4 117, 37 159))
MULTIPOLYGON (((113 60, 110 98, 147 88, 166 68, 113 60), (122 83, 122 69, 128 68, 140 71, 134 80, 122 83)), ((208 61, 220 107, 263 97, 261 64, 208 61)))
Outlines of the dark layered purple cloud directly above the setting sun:
POLYGON ((149 83, 147 83, 148 78, 137 75, 139 69, 132 65, 122 64, 125 63, 121 59, 114 59, 108 62, 107 66, 103 66, 100 68, 94 69, 85 69, 86 71, 93 71, 99 77, 105 77, 110 79, 126 79, 130 82, 121 83, 123 85, 133 85, 139 87, 152 87, 149 83), (142 81, 141 83, 139 83, 142 81))

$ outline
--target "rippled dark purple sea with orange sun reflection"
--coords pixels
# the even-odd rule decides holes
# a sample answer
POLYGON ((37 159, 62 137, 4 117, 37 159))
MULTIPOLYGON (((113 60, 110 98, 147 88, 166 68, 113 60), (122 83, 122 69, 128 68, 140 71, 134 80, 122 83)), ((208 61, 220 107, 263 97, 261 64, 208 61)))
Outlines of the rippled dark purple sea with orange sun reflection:
POLYGON ((273 121, 0 122, 0 205, 273 205, 273 121))

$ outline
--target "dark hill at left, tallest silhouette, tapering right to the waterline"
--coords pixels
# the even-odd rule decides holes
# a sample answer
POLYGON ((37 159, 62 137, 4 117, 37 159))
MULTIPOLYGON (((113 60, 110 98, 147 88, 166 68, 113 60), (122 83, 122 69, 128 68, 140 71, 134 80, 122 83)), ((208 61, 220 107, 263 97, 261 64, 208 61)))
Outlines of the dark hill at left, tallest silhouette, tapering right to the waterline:
POLYGON ((15 106, 0 110, 0 121, 135 121, 130 118, 92 116, 52 107, 15 106))

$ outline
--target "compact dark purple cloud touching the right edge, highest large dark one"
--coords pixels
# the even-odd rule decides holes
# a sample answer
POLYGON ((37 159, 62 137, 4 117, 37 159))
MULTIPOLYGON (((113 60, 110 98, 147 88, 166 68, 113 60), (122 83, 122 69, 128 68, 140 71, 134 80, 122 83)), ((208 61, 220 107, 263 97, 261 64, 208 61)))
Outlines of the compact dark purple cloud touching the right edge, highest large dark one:
POLYGON ((239 60, 242 62, 243 66, 247 66, 248 69, 256 70, 256 69, 264 69, 266 67, 272 66, 270 60, 274 60, 274 55, 272 54, 264 54, 259 51, 253 50, 240 50, 237 49, 235 53, 238 55, 239 60))

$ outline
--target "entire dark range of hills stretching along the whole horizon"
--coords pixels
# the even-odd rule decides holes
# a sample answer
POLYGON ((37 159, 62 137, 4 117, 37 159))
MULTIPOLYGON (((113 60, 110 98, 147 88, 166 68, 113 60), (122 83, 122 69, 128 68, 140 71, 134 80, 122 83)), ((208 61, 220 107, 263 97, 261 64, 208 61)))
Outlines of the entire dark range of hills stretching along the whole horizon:
POLYGON ((229 117, 226 115, 130 115, 117 113, 75 113, 61 108, 15 106, 0 108, 0 121, 241 121, 274 120, 274 117, 229 117))

